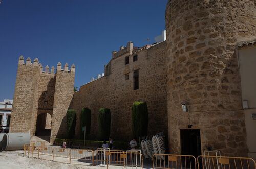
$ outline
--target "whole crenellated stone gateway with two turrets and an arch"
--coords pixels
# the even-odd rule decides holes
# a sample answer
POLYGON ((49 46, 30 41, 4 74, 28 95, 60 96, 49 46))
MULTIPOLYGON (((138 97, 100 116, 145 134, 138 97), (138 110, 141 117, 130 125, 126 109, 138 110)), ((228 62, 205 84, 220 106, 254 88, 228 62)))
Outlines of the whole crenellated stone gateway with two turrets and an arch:
MULTIPOLYGON (((31 136, 65 137, 66 113, 73 97, 75 65, 45 67, 20 56, 12 107, 10 132, 31 136)), ((49 141, 49 140, 48 140, 49 141)))

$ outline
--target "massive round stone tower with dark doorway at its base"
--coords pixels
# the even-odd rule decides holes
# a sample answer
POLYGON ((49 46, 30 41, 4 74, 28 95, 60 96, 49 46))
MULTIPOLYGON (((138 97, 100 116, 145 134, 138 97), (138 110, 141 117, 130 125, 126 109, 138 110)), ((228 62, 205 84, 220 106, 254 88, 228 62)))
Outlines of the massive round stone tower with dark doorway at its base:
POLYGON ((182 153, 182 144, 191 137, 201 153, 208 149, 247 156, 236 49, 239 42, 256 37, 255 6, 254 0, 168 1, 171 153, 182 153), (188 112, 182 111, 181 102, 187 103, 188 112))

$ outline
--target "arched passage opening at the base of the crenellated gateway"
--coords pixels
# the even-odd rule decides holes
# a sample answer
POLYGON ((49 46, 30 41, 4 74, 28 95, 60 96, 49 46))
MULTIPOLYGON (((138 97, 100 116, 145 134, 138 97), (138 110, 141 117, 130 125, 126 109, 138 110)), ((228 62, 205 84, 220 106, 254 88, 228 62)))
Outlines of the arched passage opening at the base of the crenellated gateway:
POLYGON ((49 113, 41 113, 36 119, 36 136, 51 136, 52 116, 49 113))

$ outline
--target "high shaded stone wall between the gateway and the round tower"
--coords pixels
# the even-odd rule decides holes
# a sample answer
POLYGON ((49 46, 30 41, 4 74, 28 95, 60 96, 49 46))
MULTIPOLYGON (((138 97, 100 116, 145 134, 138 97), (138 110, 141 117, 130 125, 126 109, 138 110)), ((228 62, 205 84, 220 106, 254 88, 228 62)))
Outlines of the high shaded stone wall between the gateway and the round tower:
MULTIPOLYGON (((166 86, 166 43, 162 42, 129 55, 129 64, 124 65, 122 55, 109 63, 111 74, 80 87, 74 93, 71 108, 88 107, 92 110, 91 137, 98 136, 98 111, 101 107, 111 110, 111 136, 115 140, 132 138, 132 105, 134 101, 145 101, 148 106, 148 134, 167 132, 167 86, 166 86), (133 56, 138 60, 133 62, 133 56), (139 69, 139 89, 133 90, 133 71, 139 69), (129 80, 125 80, 129 74, 129 80)), ((80 135, 80 122, 76 126, 80 135)))

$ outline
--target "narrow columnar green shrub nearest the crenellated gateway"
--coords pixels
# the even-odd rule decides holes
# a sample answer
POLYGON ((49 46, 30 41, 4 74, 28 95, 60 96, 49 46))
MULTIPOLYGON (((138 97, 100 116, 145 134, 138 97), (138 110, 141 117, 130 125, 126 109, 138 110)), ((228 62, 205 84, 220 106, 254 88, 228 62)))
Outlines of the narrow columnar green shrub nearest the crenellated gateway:
POLYGON ((73 138, 76 128, 76 111, 69 109, 67 112, 67 138, 73 138))

